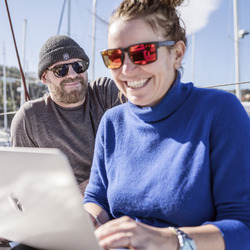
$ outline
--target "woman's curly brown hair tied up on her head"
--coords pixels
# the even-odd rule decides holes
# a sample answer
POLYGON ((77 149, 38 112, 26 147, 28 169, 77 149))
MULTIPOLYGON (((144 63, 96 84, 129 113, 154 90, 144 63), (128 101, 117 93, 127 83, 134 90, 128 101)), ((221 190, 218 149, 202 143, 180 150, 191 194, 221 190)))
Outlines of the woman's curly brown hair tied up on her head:
POLYGON ((109 25, 119 18, 126 21, 144 19, 165 39, 180 41, 187 45, 186 31, 176 7, 184 0, 124 0, 110 17, 109 25))

